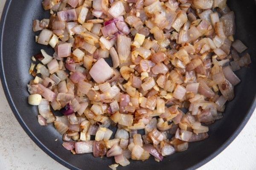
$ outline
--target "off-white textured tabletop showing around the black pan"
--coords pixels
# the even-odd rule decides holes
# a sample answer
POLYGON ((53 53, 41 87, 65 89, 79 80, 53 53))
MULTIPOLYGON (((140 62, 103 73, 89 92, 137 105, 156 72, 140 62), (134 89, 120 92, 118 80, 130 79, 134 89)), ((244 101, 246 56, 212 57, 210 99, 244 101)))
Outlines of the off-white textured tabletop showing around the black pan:
MULTIPOLYGON (((0 15, 5 1, 0 0, 0 15)), ((0 170, 66 169, 47 156, 24 132, 15 119, 0 85, 0 170)), ((256 111, 239 136, 222 153, 198 170, 255 169, 256 111)))

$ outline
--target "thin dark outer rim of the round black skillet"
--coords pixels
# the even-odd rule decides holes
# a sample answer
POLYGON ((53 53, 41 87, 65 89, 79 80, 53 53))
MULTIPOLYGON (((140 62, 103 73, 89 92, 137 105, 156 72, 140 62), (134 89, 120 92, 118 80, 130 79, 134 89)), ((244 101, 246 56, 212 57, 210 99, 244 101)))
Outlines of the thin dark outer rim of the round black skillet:
MULTIPOLYGON (((3 87, 4 94, 6 96, 6 99, 9 103, 10 108, 12 109, 13 114, 15 115, 17 121, 19 122, 19 124, 21 125, 23 130, 30 137, 30 139, 32 139, 32 141, 35 142, 35 144, 37 144, 38 147, 41 148, 41 150, 43 150, 47 155, 49 155, 52 159, 54 159, 58 163, 62 164, 63 166, 65 166, 69 169, 72 169, 72 170, 79 170, 79 168, 73 166, 72 164, 68 163, 67 161, 64 161, 63 159, 61 159, 59 156, 55 155, 43 143, 40 142, 40 140, 26 126, 25 122, 23 121, 22 117, 20 116, 19 111, 15 107, 15 104, 12 100, 12 97, 10 95, 9 88, 8 88, 7 82, 6 82, 5 71, 3 68, 3 65, 4 65, 3 64, 3 32, 4 32, 4 26, 6 23, 6 17, 7 17, 11 3, 12 3, 12 0, 6 0, 6 3, 4 5, 3 11, 2 11, 1 20, 0 20, 0 28, 1 28, 1 30, 0 30, 0 79, 1 79, 2 87, 3 87)), ((204 164, 206 164, 207 162, 209 162, 210 160, 215 158, 218 154, 220 154, 226 147, 228 147, 228 145, 230 145, 231 142, 233 142, 233 140, 236 139, 236 137, 239 135, 241 130, 247 124, 247 122, 250 119, 250 117, 252 116, 255 108, 256 108, 256 94, 254 94, 254 99, 249 108, 249 111, 246 113, 241 124, 236 128, 236 130, 233 132, 233 134, 217 150, 215 150, 208 157, 204 158, 197 164, 193 165, 192 167, 189 167, 188 170, 194 170, 194 169, 197 169, 198 167, 203 166, 204 164)))

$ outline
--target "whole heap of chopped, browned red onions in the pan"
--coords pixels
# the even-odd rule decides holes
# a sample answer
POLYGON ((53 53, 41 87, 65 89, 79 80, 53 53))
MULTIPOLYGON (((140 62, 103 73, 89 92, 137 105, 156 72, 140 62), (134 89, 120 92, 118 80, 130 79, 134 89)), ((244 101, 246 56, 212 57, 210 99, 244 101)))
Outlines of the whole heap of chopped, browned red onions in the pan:
POLYGON ((54 122, 72 153, 114 156, 112 169, 208 138, 235 97, 233 71, 251 63, 226 1, 44 0, 51 16, 33 31, 55 53, 41 50, 29 68, 39 124, 54 122))

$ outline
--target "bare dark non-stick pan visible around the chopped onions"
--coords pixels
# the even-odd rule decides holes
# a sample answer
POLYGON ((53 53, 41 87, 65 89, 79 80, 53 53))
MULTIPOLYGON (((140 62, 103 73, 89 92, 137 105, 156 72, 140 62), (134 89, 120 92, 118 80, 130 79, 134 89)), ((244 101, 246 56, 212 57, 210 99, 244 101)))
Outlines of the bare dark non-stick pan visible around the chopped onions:
MULTIPOLYGON (((175 153, 157 163, 151 156, 142 161, 131 161, 119 170, 182 170, 195 169, 205 164, 224 150, 240 133, 256 107, 256 5, 254 0, 229 0, 230 8, 236 15, 236 39, 247 45, 252 64, 236 74, 241 83, 236 86, 236 97, 228 102, 224 117, 209 127, 209 138, 201 142, 189 143, 185 152, 175 153)), ((30 138, 53 159, 70 169, 108 169, 113 158, 94 158, 92 154, 73 155, 65 150, 62 136, 53 125, 40 126, 37 121, 37 107, 27 103, 26 85, 31 57, 40 49, 52 53, 51 49, 35 43, 32 20, 49 17, 41 0, 8 0, 0 23, 0 77, 3 88, 20 125, 30 138), (55 141, 55 139, 58 141, 55 141)))

